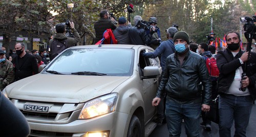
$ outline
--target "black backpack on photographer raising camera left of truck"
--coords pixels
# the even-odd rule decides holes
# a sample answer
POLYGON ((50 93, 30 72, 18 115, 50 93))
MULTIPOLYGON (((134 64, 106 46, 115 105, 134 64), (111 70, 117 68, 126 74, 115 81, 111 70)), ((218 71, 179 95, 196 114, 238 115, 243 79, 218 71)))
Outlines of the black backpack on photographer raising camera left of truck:
POLYGON ((52 61, 60 52, 66 49, 67 47, 68 40, 57 40, 54 39, 51 46, 50 46, 50 51, 51 51, 51 56, 50 60, 52 61))

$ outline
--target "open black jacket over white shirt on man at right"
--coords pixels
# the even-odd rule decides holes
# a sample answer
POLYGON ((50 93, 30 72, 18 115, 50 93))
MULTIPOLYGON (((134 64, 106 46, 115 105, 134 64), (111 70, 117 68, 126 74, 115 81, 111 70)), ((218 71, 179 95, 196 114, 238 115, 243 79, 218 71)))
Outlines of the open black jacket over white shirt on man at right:
MULTIPOLYGON (((218 79, 218 93, 225 94, 231 86, 236 70, 242 66, 244 71, 244 64, 241 65, 239 58, 242 56, 244 51, 240 49, 236 57, 229 49, 220 50, 217 53, 217 66, 220 71, 218 79)), ((256 80, 256 53, 251 52, 250 59, 247 61, 246 75, 249 77, 250 84, 248 90, 253 100, 256 98, 256 90, 254 87, 256 80)))

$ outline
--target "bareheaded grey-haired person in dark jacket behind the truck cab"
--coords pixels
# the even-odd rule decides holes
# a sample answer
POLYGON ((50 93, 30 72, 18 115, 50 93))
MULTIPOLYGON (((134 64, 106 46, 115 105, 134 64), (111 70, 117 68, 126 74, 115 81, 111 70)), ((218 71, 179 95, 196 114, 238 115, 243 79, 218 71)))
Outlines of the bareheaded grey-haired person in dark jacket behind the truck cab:
POLYGON ((129 29, 129 37, 131 44, 133 45, 150 45, 152 43, 151 37, 148 36, 145 29, 138 27, 138 23, 142 20, 141 16, 137 15, 134 17, 134 24, 129 29))

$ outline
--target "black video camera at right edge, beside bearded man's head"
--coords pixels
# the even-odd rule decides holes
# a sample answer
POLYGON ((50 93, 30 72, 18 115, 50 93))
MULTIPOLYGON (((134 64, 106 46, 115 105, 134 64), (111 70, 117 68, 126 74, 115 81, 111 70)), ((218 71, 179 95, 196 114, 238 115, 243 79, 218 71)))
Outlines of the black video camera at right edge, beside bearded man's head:
POLYGON ((244 36, 248 40, 249 35, 252 36, 252 39, 256 40, 256 15, 250 17, 241 17, 241 22, 246 22, 244 24, 244 36))

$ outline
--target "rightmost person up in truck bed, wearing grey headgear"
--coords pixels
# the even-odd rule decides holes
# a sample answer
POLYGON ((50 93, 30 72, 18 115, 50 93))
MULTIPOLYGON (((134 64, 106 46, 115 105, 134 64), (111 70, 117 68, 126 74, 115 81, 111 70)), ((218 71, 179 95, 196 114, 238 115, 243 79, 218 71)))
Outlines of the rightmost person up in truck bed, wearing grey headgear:
POLYGON ((152 40, 155 40, 155 42, 151 43, 149 46, 156 49, 161 44, 161 34, 160 29, 157 26, 157 18, 150 17, 148 22, 150 22, 150 30, 147 30, 147 34, 152 34, 152 40))

